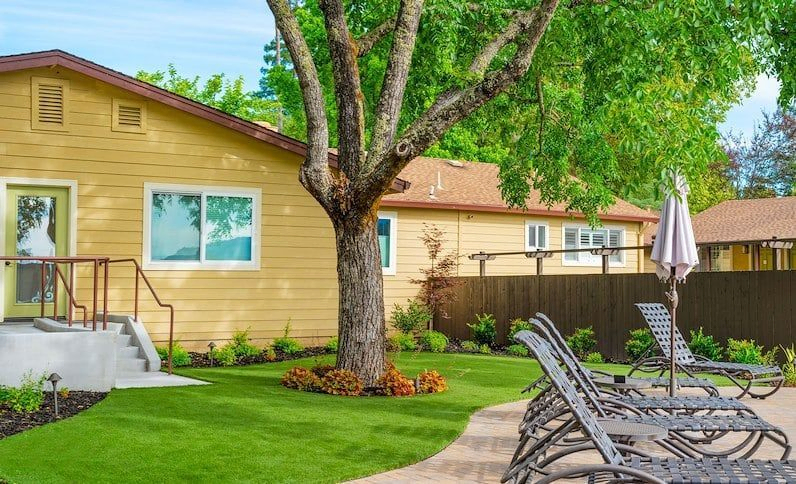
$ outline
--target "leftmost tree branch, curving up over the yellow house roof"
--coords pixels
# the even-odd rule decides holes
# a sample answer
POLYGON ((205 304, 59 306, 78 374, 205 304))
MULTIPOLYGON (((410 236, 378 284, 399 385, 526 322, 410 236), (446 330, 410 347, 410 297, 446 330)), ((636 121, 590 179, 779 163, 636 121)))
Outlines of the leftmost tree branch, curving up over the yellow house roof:
POLYGON ((328 212, 334 198, 334 178, 329 169, 329 126, 321 82, 288 0, 268 0, 268 6, 293 60, 307 116, 307 157, 301 164, 299 180, 328 212))

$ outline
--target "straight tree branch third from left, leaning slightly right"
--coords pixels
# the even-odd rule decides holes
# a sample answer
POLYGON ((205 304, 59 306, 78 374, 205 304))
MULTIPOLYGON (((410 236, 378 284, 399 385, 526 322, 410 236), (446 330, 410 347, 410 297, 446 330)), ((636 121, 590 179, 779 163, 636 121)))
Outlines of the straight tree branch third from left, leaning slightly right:
POLYGON ((392 50, 374 114, 368 168, 372 168, 384 158, 395 138, 422 10, 423 0, 401 0, 398 19, 395 22, 392 50))

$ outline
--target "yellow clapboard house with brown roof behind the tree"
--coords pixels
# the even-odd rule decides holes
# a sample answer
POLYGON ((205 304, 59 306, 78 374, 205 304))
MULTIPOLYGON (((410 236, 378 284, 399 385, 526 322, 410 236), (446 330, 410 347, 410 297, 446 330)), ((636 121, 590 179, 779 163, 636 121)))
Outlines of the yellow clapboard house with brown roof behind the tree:
MULTIPOLYGON (((0 57, 0 252, 134 259, 174 306, 174 336, 188 348, 247 328, 263 345, 288 322, 293 336, 321 343, 337 332, 334 234, 297 180, 304 153, 302 143, 266 127, 65 52, 0 57)), ((655 220, 618 200, 602 217, 605 227, 592 230, 564 207, 531 202, 525 212, 508 209, 494 165, 413 161, 380 211, 388 307, 417 292, 409 280, 428 265, 423 223, 442 228, 448 247, 465 256, 636 245, 655 220)), ((599 265, 586 255, 559 256, 545 270, 598 272, 599 265)), ((642 269, 635 251, 612 261, 612 271, 642 269)), ((524 258, 489 267, 490 274, 534 270, 524 258)), ((103 277, 95 284, 90 264, 74 272, 75 298, 92 310, 103 277)), ((459 275, 477 272, 477 262, 460 258, 459 275)), ((108 274, 108 311, 132 314, 139 283, 139 317, 155 343, 167 341, 168 311, 133 267, 112 263, 108 274)), ((53 307, 57 277, 40 263, 6 261, 3 321, 30 319, 44 306, 69 313, 63 294, 53 307)))

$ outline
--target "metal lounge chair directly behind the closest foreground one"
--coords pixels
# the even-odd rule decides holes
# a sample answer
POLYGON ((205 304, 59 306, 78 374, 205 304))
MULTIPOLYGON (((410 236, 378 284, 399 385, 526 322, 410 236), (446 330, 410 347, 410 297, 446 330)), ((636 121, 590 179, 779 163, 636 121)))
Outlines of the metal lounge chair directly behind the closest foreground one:
MULTIPOLYGON (((531 323, 546 338, 550 338, 546 328, 535 319, 531 323)), ((680 457, 728 457, 739 455, 751 457, 760 448, 765 439, 783 448, 782 458, 790 454, 791 446, 787 435, 774 425, 756 416, 748 407, 735 399, 726 397, 631 397, 617 399, 601 395, 599 389, 590 382, 588 375, 584 378, 579 371, 579 364, 561 354, 549 341, 553 354, 561 360, 568 370, 569 378, 580 389, 591 407, 601 417, 614 417, 627 423, 647 423, 665 428, 669 432, 668 439, 657 443, 669 452, 680 457), (635 399, 635 401, 634 401, 635 399), (702 407, 702 408, 700 408, 702 407), (675 415, 675 410, 686 410, 684 415, 675 415), (694 410, 711 410, 707 414, 694 415, 694 410), (730 415, 714 415, 714 410, 729 410, 730 415), (657 413, 656 413, 657 411, 657 413), (670 413, 671 412, 671 413, 670 413), (729 433, 748 434, 741 443, 725 449, 706 448, 705 444, 713 444, 729 433)), ((580 367, 582 368, 582 367, 580 367)), ((526 413, 526 418, 528 418, 526 413)), ((520 425, 520 431, 523 430, 520 425)), ((528 439, 526 439, 528 440, 528 439)))

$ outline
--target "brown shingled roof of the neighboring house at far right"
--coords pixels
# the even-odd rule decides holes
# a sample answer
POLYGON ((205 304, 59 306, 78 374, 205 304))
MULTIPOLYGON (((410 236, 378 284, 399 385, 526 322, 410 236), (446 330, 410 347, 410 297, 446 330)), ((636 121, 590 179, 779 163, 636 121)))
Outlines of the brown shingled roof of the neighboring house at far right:
POLYGON ((796 239, 796 197, 727 200, 692 219, 698 244, 796 239))

